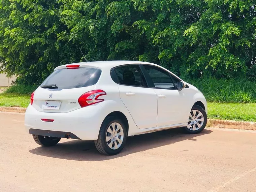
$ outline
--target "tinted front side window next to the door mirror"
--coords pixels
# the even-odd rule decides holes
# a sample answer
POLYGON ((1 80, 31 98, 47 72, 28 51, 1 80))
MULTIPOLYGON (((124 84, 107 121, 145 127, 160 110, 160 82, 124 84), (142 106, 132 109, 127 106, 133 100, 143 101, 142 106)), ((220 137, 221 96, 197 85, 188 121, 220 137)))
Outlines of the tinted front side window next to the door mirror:
POLYGON ((156 66, 143 65, 156 88, 175 89, 170 74, 156 66))

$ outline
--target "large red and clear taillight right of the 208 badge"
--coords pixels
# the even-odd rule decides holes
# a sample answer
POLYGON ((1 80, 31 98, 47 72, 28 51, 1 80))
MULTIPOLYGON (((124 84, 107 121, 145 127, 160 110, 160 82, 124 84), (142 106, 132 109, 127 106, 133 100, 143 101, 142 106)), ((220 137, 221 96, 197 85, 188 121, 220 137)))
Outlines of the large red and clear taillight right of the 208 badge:
POLYGON ((106 95, 106 92, 103 90, 89 91, 79 97, 78 103, 81 107, 86 107, 94 103, 99 103, 101 101, 104 101, 104 99, 98 99, 98 97, 102 95, 106 95))

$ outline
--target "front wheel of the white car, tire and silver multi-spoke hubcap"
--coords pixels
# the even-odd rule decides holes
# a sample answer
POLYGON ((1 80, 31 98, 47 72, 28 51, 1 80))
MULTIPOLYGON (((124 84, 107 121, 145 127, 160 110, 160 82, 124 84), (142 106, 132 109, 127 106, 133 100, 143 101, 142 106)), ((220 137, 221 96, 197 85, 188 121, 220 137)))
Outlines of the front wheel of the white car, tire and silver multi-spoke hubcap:
POLYGON ((207 114, 202 107, 194 105, 190 111, 188 120, 188 126, 183 127, 183 130, 189 134, 200 133, 207 124, 207 114))

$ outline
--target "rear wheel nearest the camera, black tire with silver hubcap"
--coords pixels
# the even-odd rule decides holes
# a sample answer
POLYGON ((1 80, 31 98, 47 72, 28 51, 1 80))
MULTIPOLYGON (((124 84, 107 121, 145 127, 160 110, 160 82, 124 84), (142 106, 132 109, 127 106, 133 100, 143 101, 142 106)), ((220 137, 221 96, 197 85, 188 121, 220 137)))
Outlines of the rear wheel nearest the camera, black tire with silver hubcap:
POLYGON ((101 124, 99 137, 97 140, 94 141, 94 143, 95 143, 96 149, 101 154, 116 155, 120 153, 120 151, 122 151, 122 149, 124 148, 126 138, 127 138, 126 126, 122 122, 122 120, 114 116, 109 116, 109 117, 106 117, 103 123, 101 124), (114 127, 114 130, 113 130, 113 127, 114 127), (110 148, 110 146, 112 148, 110 148))

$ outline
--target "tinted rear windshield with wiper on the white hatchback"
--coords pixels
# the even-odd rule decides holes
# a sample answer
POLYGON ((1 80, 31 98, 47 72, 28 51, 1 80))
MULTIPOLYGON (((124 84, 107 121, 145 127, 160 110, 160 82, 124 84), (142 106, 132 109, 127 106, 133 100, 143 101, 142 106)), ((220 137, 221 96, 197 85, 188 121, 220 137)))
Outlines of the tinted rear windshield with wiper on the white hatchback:
POLYGON ((100 74, 101 70, 95 68, 58 69, 41 86, 56 85, 58 89, 88 87, 98 82, 100 74))

